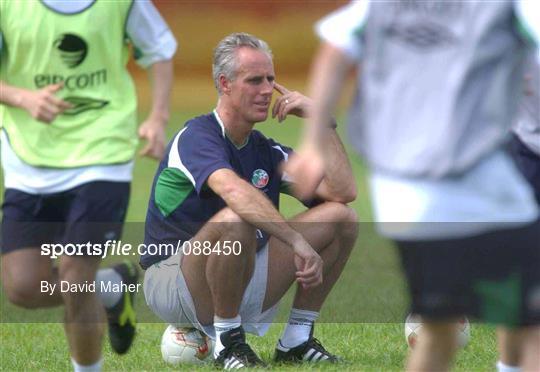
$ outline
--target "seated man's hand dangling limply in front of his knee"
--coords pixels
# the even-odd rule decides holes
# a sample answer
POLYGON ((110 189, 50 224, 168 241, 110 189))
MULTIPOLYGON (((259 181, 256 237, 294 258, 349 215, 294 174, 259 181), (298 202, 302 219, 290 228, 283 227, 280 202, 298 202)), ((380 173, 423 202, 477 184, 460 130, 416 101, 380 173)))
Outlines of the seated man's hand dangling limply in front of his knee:
POLYGON ((323 281, 323 261, 321 256, 300 235, 293 244, 296 281, 303 288, 313 288, 323 281))

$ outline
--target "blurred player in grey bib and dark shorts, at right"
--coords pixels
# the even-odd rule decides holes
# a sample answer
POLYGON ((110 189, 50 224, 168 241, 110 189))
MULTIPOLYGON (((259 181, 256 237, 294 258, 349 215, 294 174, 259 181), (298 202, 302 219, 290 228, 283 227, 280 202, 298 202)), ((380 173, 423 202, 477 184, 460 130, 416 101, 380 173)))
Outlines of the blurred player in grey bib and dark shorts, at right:
POLYGON ((371 168, 376 220, 398 244, 412 310, 427 320, 409 370, 450 367, 451 321, 463 314, 517 327, 501 347, 540 368, 538 208, 502 149, 538 43, 540 11, 525 9, 535 4, 358 1, 318 24, 315 114, 286 171, 309 195, 326 161, 321 128, 357 65, 350 138, 371 168))

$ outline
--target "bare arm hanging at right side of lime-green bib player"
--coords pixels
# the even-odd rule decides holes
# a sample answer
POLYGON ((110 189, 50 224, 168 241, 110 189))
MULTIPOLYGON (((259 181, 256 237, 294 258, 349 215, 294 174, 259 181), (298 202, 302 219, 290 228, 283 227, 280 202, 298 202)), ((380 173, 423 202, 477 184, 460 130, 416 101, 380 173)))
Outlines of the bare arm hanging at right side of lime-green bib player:
POLYGON ((159 61, 150 66, 152 80, 152 109, 139 127, 139 137, 148 143, 140 155, 160 160, 165 153, 165 130, 169 121, 169 101, 173 82, 171 60, 159 61))

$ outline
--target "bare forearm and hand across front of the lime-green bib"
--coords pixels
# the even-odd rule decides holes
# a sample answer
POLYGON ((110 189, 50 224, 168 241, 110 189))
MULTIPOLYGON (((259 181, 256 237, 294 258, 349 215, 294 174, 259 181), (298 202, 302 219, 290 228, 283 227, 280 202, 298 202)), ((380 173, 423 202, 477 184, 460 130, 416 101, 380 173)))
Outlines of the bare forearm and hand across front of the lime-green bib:
POLYGON ((39 90, 15 87, 0 81, 0 103, 18 107, 43 123, 51 123, 71 104, 55 96, 63 84, 48 85, 39 90))

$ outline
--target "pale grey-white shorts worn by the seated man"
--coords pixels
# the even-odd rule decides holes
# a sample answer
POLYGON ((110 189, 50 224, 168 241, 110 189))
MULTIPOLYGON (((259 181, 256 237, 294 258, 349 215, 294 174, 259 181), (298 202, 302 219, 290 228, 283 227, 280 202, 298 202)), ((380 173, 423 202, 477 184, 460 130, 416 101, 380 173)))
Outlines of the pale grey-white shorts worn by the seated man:
MULTIPOLYGON (((181 252, 181 250, 180 250, 181 252)), ((202 325, 197 319, 193 298, 180 269, 177 254, 150 266, 144 275, 144 296, 152 311, 165 322, 195 327, 215 339, 213 325, 202 325)), ((262 311, 268 278, 268 244, 257 252, 255 270, 244 292, 240 317, 244 330, 264 335, 275 317, 279 303, 262 311)))

